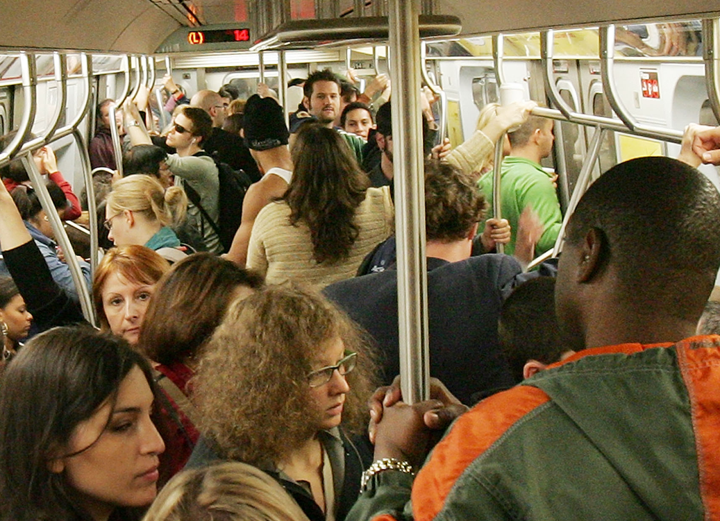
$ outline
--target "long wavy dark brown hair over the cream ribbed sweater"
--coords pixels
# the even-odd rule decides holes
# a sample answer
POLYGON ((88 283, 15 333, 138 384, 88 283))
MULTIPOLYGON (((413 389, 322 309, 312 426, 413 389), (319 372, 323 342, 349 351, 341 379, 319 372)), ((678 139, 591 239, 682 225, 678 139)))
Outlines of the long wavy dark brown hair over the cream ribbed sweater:
POLYGON ((302 125, 292 147, 292 182, 282 197, 290 224, 305 222, 318 263, 347 258, 360 230, 355 210, 370 186, 352 150, 336 130, 302 125))

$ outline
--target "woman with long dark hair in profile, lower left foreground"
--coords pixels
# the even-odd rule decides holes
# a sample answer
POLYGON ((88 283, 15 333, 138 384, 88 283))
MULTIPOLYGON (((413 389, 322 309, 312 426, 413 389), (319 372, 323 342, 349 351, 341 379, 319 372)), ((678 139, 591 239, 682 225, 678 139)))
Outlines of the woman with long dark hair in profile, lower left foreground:
POLYGON ((0 520, 139 520, 165 446, 150 366, 89 327, 38 335, 0 381, 0 520))

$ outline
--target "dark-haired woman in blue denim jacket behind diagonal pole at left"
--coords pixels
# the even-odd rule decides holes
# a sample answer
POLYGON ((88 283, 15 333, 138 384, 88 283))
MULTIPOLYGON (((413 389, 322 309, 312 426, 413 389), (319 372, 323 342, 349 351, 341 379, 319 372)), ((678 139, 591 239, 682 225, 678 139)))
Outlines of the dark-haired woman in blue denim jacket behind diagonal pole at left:
MULTIPOLYGON (((52 181, 48 182, 48 192, 50 192, 50 199, 53 200, 55 209, 57 209, 58 214, 62 216, 68 205, 65 194, 63 194, 63 191, 60 190, 58 185, 52 181)), ((42 253, 42 257, 45 258, 45 263, 48 264, 53 280, 77 302, 79 300, 78 290, 75 287, 73 276, 68 265, 58 257, 58 245, 55 244, 55 233, 53 232, 53 227, 50 226, 48 215, 45 214, 45 210, 42 209, 42 204, 40 204, 40 198, 37 196, 37 193, 30 186, 17 186, 17 188, 12 191, 12 199, 20 212, 20 217, 22 217, 27 231, 30 232, 32 240, 35 241, 37 248, 40 250, 40 253, 42 253)), ((85 283, 89 288, 91 284, 90 265, 81 259, 78 259, 78 262, 80 263, 85 283)))

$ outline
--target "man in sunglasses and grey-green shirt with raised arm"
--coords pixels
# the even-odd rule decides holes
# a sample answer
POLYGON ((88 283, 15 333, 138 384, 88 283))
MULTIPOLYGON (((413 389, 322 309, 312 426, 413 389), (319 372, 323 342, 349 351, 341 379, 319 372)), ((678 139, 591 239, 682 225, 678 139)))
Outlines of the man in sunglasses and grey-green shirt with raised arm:
MULTIPOLYGON (((128 100, 123 109, 125 128, 130 135, 132 146, 152 145, 135 103, 128 100)), ((184 107, 182 112, 175 117, 174 127, 166 140, 168 147, 174 148, 176 153, 168 154, 165 163, 175 175, 175 183, 183 186, 185 191, 195 191, 207 217, 217 222, 220 217, 219 174, 215 160, 204 154, 202 150, 210 132, 212 132, 212 119, 207 112, 197 107, 184 107)), ((212 229, 207 217, 195 204, 188 204, 188 224, 194 227, 202 237, 204 248, 212 253, 222 253, 220 237, 212 229)), ((132 218, 132 216, 125 218, 132 218)))

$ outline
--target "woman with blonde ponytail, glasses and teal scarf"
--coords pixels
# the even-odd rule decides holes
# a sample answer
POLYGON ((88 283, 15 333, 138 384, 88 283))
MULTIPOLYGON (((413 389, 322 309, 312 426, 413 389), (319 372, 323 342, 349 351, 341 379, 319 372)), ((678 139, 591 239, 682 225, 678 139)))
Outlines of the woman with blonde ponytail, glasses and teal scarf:
POLYGON ((128 176, 112 184, 104 225, 114 245, 144 245, 151 250, 180 246, 172 227, 185 218, 187 196, 179 186, 164 189, 151 176, 128 176))

